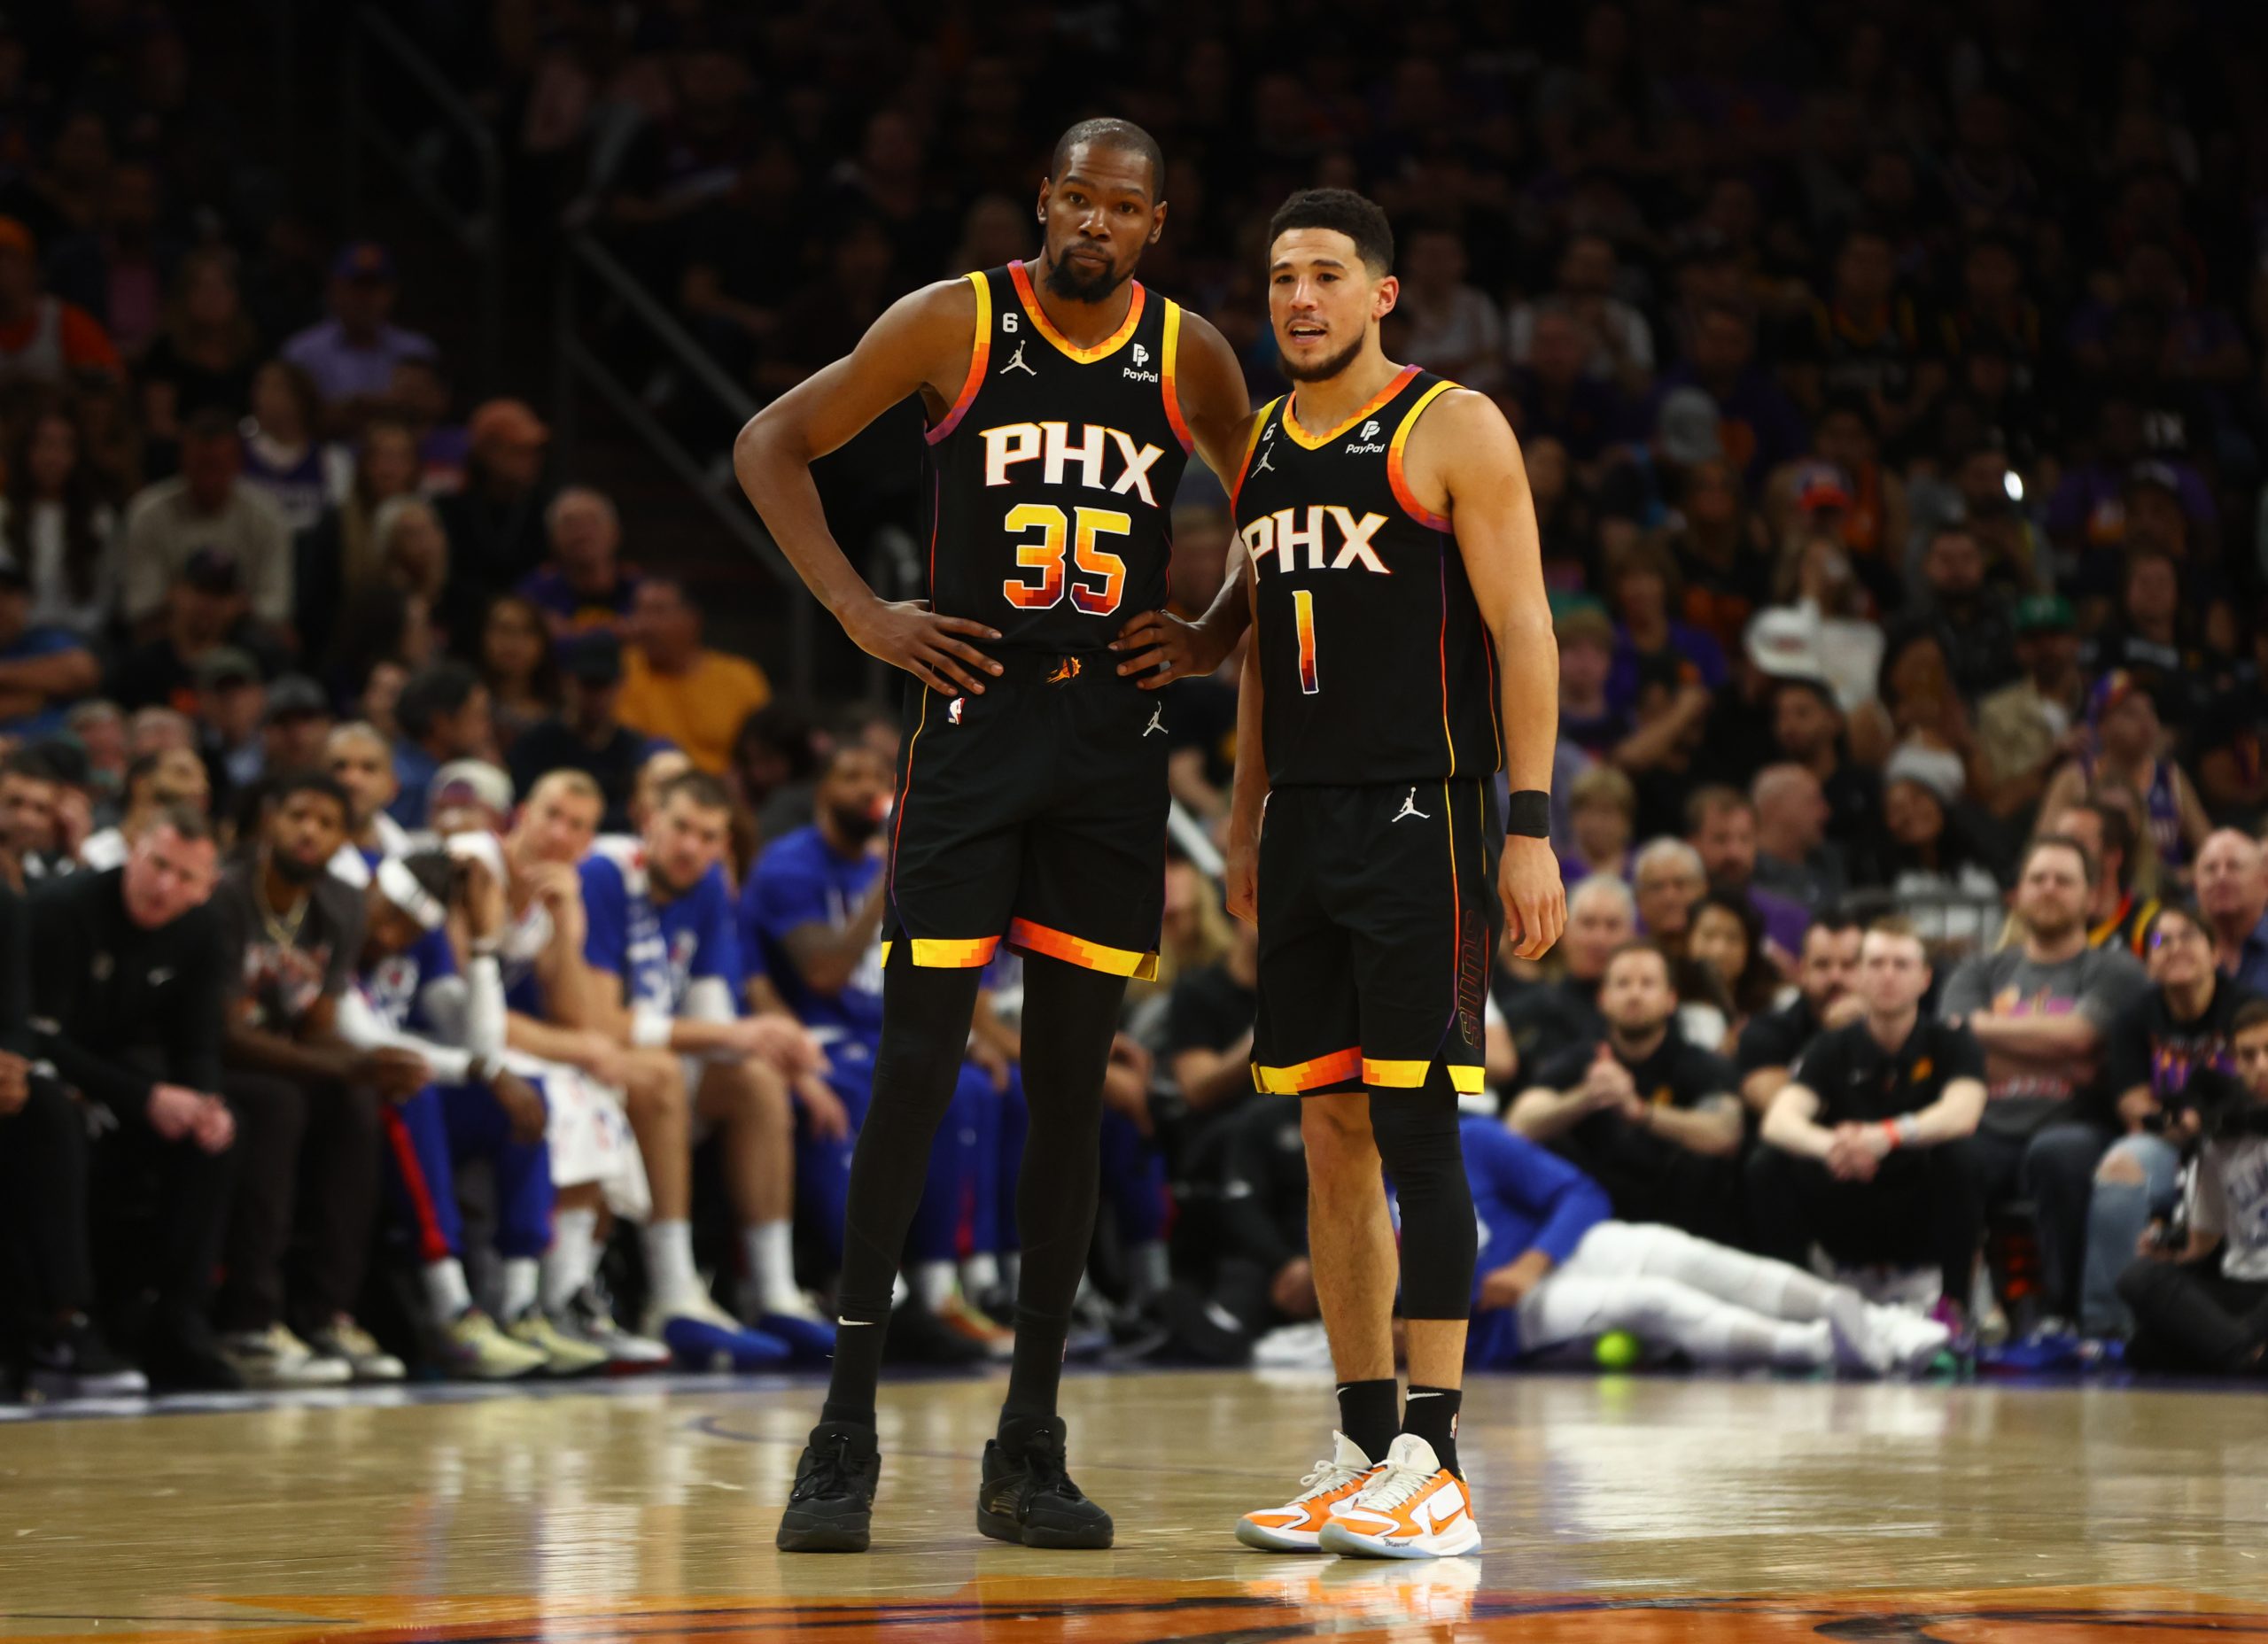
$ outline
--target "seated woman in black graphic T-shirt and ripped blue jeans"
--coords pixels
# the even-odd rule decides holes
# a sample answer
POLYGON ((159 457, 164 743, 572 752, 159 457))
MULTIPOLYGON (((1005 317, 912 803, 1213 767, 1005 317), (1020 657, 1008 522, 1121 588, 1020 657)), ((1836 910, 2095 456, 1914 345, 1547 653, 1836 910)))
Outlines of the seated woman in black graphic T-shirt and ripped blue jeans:
POLYGON ((2127 1336, 2134 1320, 2118 1299, 2118 1274, 2152 1218, 2180 1195, 2184 1127, 2168 1109, 2204 1070, 2236 1075, 2236 1016, 2259 995, 2214 971, 2214 937, 2186 902, 2168 902, 2150 921, 2150 991, 2102 1034, 2102 1079, 2096 1118, 2118 1141, 2096 1166, 2087 1211, 2087 1279, 2080 1329, 2127 1336), (2173 1120, 2168 1125, 2168 1120, 2173 1120))

